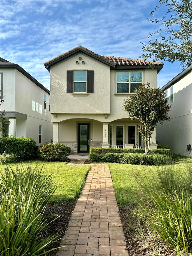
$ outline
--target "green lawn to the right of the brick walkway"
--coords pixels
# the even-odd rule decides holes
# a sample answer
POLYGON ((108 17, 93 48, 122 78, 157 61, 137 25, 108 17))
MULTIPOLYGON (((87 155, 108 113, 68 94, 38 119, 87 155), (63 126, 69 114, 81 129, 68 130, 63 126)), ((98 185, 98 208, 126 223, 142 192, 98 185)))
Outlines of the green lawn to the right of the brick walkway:
MULTIPOLYGON (((187 158, 179 159, 179 164, 174 165, 176 170, 180 169, 184 164, 183 161, 188 161, 187 158)), ((190 160, 189 160, 190 161, 190 160)), ((131 165, 131 164, 116 164, 108 163, 111 171, 113 186, 118 204, 128 205, 134 203, 138 199, 139 187, 135 176, 139 173, 142 176, 150 174, 150 171, 155 171, 155 166, 131 165)))

